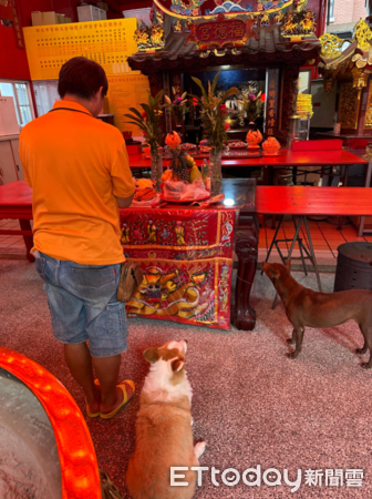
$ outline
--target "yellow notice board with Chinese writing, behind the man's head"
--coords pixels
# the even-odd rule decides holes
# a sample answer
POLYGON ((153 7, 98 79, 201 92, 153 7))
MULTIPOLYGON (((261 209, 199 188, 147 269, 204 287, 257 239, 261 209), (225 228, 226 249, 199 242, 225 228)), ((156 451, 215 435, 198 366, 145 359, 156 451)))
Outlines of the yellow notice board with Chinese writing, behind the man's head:
POLYGON ((62 64, 81 55, 99 62, 107 77, 133 74, 127 58, 137 51, 136 29, 136 19, 23 28, 31 80, 58 80, 62 64))

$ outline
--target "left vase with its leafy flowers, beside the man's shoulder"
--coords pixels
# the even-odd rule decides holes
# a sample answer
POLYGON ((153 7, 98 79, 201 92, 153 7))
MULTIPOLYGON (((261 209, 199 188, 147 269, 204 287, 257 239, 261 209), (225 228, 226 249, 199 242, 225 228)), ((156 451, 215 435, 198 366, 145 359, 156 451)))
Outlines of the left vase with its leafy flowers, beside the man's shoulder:
POLYGON ((135 108, 130 108, 131 114, 124 114, 131 120, 128 123, 138 126, 144 134, 145 144, 149 147, 152 180, 157 192, 161 192, 163 175, 163 155, 162 147, 159 147, 162 141, 162 128, 159 125, 162 98, 163 90, 155 98, 148 92, 148 102, 140 104, 143 109, 142 113, 135 108))

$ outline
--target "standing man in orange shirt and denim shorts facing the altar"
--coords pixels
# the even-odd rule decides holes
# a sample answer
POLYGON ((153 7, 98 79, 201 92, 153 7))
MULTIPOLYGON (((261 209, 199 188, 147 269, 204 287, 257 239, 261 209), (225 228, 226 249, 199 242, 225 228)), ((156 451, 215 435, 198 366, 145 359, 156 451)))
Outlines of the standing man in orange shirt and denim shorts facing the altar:
POLYGON ((118 208, 131 205, 134 184, 121 132, 96 119, 107 89, 100 64, 71 59, 60 72, 62 101, 20 136, 25 181, 33 189, 32 252, 53 334, 85 393, 87 416, 103 419, 135 389, 131 380, 117 384, 127 323, 116 301, 125 259, 118 208))

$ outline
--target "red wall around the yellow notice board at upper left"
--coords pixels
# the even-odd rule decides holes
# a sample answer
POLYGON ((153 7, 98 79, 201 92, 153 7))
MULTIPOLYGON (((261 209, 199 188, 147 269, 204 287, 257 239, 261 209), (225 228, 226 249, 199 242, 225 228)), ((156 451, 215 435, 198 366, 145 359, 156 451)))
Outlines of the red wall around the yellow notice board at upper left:
MULTIPOLYGON (((31 12, 34 10, 40 10, 41 12, 53 10, 58 13, 64 13, 73 22, 76 22, 76 6, 81 3, 81 0, 16 0, 16 2, 22 29, 23 26, 31 26, 31 12)), ((123 14, 120 9, 116 10, 117 12, 108 10, 107 19, 122 18, 123 14)), ((0 26, 0 78, 30 80, 25 50, 17 48, 13 27, 0 26)))

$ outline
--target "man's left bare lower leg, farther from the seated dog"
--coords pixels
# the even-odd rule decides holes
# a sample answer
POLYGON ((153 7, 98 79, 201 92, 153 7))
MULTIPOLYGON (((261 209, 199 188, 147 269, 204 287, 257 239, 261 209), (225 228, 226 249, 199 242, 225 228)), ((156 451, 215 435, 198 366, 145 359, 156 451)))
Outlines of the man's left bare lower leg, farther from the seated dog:
POLYGON ((99 413, 101 405, 100 388, 94 385, 92 356, 86 343, 64 345, 64 358, 74 380, 83 388, 91 413, 99 413))

